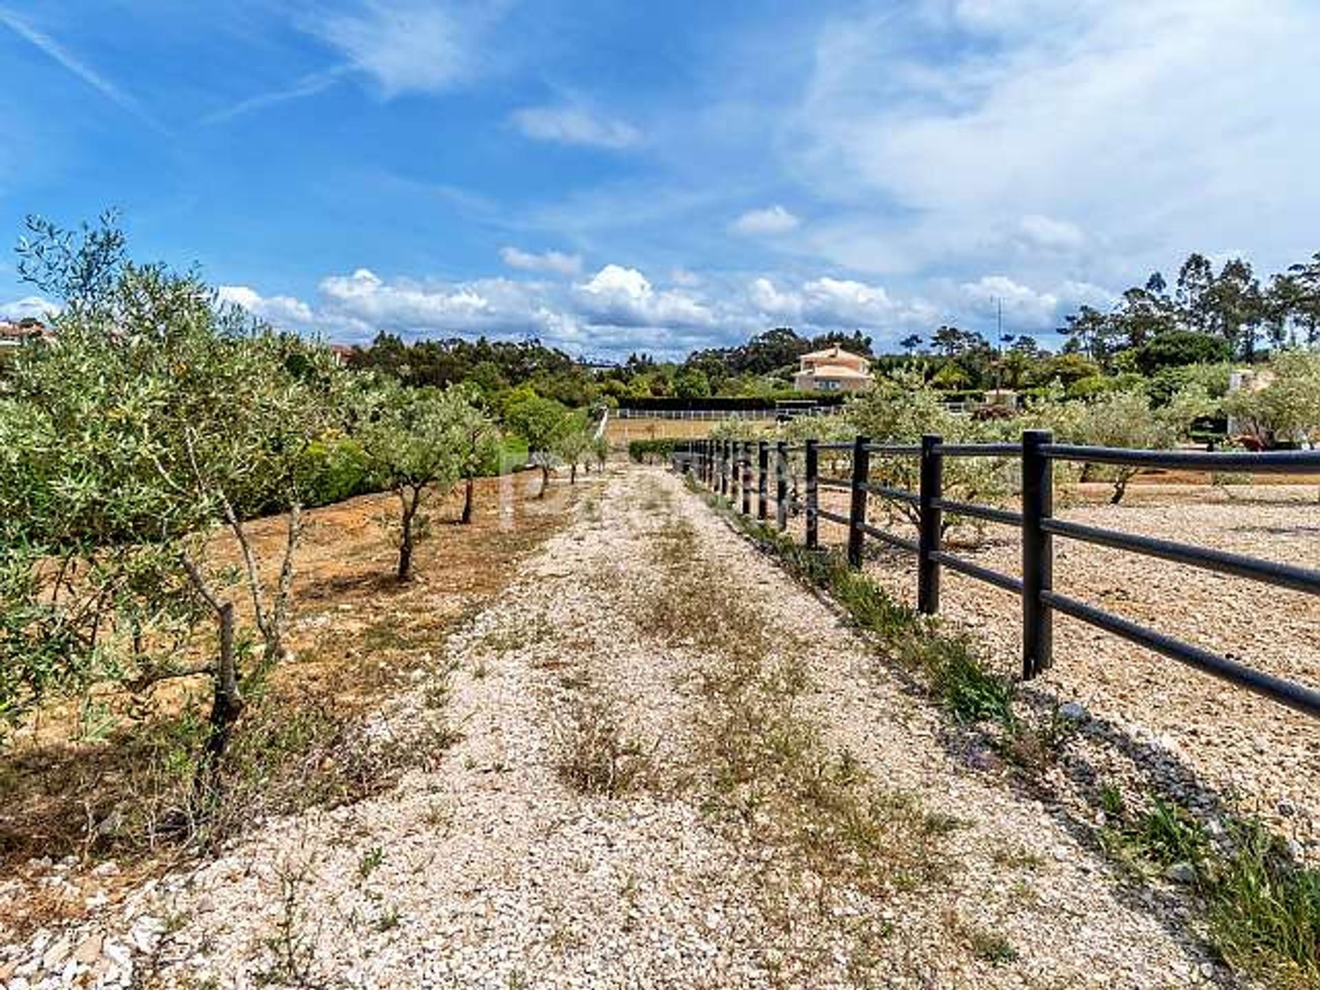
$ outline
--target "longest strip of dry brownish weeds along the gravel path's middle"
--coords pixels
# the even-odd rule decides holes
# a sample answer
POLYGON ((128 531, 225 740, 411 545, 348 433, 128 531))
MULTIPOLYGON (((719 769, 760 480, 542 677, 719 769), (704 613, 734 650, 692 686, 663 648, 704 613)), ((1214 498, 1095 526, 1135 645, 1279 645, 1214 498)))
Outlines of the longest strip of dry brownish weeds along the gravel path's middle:
POLYGON ((829 746, 801 705, 809 644, 783 636, 754 602, 711 595, 729 574, 700 560, 686 521, 660 529, 655 546, 669 579, 636 603, 634 619, 643 634, 705 657, 697 721, 706 808, 788 854, 796 866, 779 869, 791 883, 814 876, 822 909, 845 887, 883 896, 937 878, 937 840, 957 822, 878 787, 851 752, 829 746))

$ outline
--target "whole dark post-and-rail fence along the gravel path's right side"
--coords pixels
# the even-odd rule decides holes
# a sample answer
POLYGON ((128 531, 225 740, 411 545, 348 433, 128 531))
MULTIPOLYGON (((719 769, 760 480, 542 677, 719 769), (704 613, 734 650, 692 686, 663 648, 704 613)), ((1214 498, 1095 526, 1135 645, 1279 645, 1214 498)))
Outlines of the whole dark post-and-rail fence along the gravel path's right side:
POLYGON ((1320 690, 1315 688, 1255 671, 1238 660, 1220 656, 1057 594, 1053 590, 1053 540, 1060 537, 1109 546, 1312 595, 1320 595, 1320 570, 1055 519, 1055 461, 1137 469, 1315 474, 1320 478, 1320 450, 1262 454, 1123 450, 1055 444, 1047 430, 1027 430, 1020 444, 944 444, 937 436, 923 437, 920 445, 871 444, 867 437, 857 437, 846 444, 808 440, 799 445, 780 442, 774 446, 766 441, 748 444, 704 440, 682 445, 673 455, 678 470, 692 474, 708 488, 733 499, 734 504, 738 504, 737 496, 741 494, 743 515, 752 515, 754 494, 756 519, 766 520, 770 503, 774 502, 775 524, 779 529, 788 527, 791 513, 803 512, 808 549, 820 546, 820 521, 825 520, 846 527, 847 561, 854 568, 862 565, 862 550, 867 537, 911 553, 916 557, 917 609, 927 615, 935 615, 940 610, 940 574, 945 568, 1016 594, 1022 599, 1023 678, 1035 677, 1053 663, 1053 614, 1057 611, 1239 688, 1320 717, 1320 690), (846 453, 851 462, 851 477, 821 477, 822 451, 832 457, 846 453), (789 458, 799 453, 803 455, 805 475, 801 498, 791 486, 789 470, 789 458), (906 491, 873 483, 870 480, 873 454, 884 458, 917 458, 919 490, 906 491), (944 461, 949 457, 1016 459, 1022 471, 1020 508, 1012 511, 944 498, 944 461), (772 480, 774 494, 771 494, 772 480), (847 515, 821 508, 821 488, 847 491, 847 515), (919 519, 917 539, 913 541, 869 523, 866 513, 870 495, 915 506, 919 519), (1002 574, 945 550, 941 543, 945 512, 1019 529, 1022 577, 1002 574))

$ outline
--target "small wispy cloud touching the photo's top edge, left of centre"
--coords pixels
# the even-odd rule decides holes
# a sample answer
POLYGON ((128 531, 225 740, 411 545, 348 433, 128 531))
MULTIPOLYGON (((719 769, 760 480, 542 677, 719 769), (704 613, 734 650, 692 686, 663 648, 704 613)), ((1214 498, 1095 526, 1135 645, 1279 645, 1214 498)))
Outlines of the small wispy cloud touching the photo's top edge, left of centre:
POLYGON ((389 98, 442 92, 484 67, 490 26, 504 4, 364 0, 352 12, 309 18, 305 26, 338 49, 389 98))

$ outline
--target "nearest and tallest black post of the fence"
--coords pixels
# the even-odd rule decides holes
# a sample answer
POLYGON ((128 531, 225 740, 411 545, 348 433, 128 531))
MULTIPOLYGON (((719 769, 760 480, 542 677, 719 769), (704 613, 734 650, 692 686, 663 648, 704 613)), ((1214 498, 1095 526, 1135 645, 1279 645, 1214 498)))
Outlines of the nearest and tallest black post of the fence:
POLYGON ((1040 453, 1049 430, 1022 434, 1022 677, 1030 680, 1053 661, 1053 611, 1040 601, 1053 587, 1053 539, 1040 528, 1055 511, 1053 462, 1040 453))

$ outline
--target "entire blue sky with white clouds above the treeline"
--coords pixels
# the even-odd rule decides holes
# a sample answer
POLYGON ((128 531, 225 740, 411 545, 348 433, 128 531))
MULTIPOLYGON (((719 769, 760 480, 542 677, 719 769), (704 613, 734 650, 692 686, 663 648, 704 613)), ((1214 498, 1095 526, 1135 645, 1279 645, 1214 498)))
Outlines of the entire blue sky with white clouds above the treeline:
POLYGON ((337 341, 1051 339, 1320 249, 1313 0, 0 0, 0 230, 117 206, 337 341))

